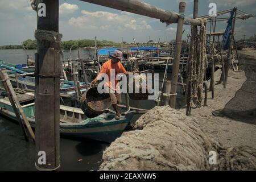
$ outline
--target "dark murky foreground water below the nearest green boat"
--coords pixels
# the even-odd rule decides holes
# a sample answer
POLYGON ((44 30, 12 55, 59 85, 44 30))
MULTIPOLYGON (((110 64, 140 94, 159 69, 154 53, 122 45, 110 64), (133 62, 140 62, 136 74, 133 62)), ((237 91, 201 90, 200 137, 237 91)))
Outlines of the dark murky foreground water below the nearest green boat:
MULTIPOLYGON (((60 138, 60 170, 97 170, 108 143, 60 138)), ((0 170, 35 170, 35 144, 24 140, 17 123, 0 117, 0 170)))

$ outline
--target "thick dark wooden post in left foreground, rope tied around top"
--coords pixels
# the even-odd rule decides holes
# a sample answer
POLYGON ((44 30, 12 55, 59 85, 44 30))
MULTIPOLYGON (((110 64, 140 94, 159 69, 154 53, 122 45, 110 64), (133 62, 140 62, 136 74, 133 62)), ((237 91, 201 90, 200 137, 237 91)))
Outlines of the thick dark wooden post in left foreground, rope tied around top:
MULTIPOLYGON (((43 33, 40 38, 35 34, 38 47, 35 56, 35 166, 49 171, 60 167, 60 45, 49 39, 51 34, 59 35, 59 1, 41 0, 40 3, 46 5, 46 16, 38 15, 37 28, 47 34, 43 33)), ((36 11, 40 14, 41 7, 36 11)))

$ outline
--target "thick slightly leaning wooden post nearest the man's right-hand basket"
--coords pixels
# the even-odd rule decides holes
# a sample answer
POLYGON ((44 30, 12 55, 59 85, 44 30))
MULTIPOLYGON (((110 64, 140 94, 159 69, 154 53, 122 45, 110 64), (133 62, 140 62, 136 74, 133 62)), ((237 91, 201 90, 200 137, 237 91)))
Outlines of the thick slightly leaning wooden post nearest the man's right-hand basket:
POLYGON ((180 51, 181 51, 181 42, 182 42, 182 31, 183 31, 183 23, 184 23, 184 14, 185 11, 185 2, 180 2, 179 5, 179 18, 177 22, 177 34, 176 34, 176 42, 175 42, 175 55, 174 55, 174 66, 172 69, 172 82, 171 82, 171 95, 169 105, 172 108, 176 106, 176 94, 177 94, 177 78, 179 73, 179 65, 180 65, 180 51))

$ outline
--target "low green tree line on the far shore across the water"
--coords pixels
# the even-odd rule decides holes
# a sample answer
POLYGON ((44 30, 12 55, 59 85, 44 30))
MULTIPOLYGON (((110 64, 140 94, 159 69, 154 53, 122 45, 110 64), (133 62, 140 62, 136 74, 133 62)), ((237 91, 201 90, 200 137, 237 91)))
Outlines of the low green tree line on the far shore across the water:
MULTIPOLYGON (((22 42, 23 46, 26 49, 36 49, 36 40, 25 40, 22 42)), ((119 46, 120 43, 115 43, 109 40, 97 40, 98 47, 106 47, 106 46, 119 46)), ((22 45, 8 45, 8 46, 0 46, 0 49, 21 49, 22 45)), ((79 47, 94 47, 94 40, 83 39, 83 40, 68 40, 63 41, 60 44, 62 49, 77 49, 79 47)))

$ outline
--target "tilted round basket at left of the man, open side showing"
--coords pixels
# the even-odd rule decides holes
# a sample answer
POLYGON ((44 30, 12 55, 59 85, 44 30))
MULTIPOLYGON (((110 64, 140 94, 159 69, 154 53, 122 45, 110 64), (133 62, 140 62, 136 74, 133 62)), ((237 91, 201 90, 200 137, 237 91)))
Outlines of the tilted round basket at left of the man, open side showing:
POLYGON ((98 93, 96 86, 82 94, 80 105, 88 118, 94 118, 104 113, 112 105, 112 101, 108 93, 98 93))

